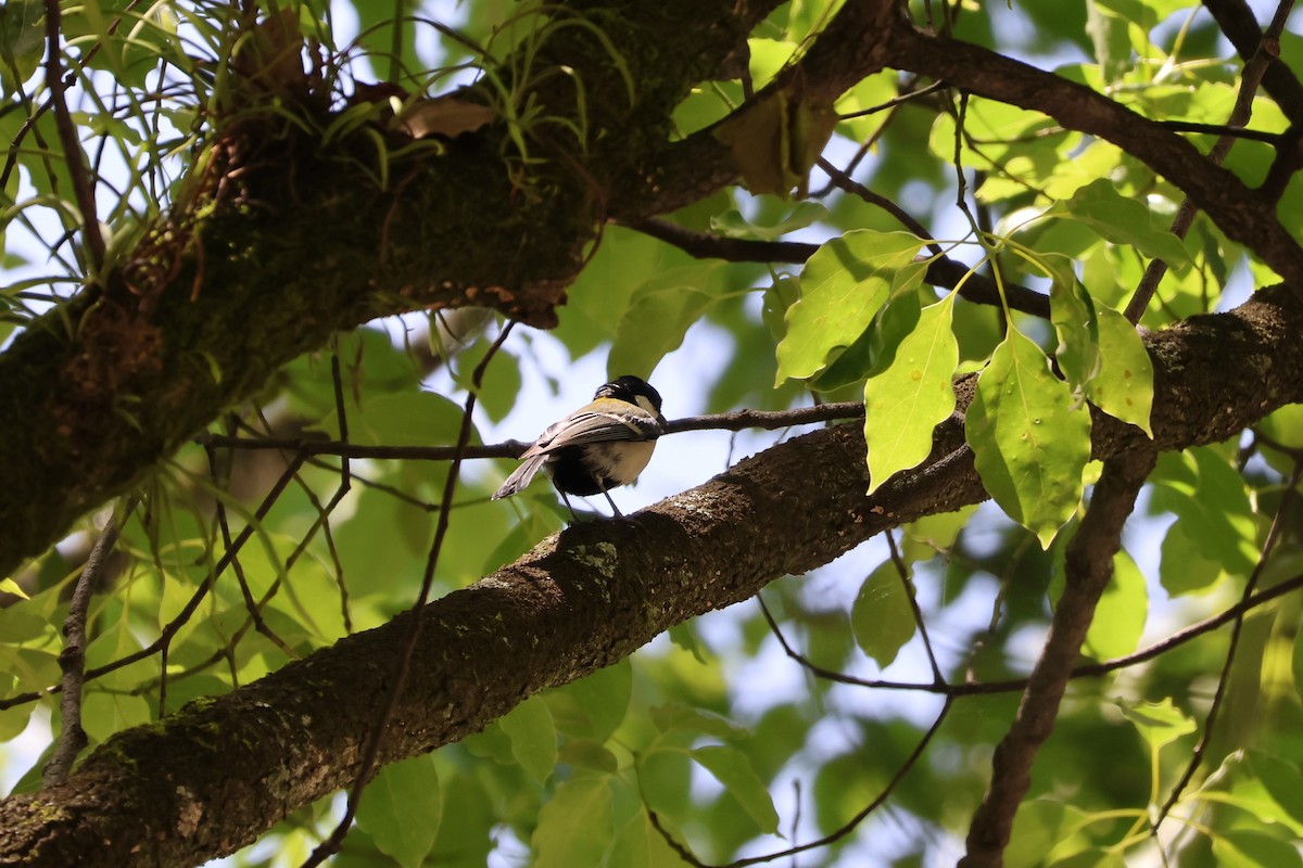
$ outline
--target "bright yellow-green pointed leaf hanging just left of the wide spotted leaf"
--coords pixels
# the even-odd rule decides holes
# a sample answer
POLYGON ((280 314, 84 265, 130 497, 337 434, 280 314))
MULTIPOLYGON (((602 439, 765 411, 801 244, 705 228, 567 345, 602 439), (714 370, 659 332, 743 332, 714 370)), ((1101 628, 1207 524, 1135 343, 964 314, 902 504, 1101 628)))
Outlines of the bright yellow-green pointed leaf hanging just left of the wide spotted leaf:
POLYGON ((869 493, 932 452, 932 429, 955 410, 950 385, 959 344, 950 329, 955 295, 923 310, 891 363, 864 384, 869 493))

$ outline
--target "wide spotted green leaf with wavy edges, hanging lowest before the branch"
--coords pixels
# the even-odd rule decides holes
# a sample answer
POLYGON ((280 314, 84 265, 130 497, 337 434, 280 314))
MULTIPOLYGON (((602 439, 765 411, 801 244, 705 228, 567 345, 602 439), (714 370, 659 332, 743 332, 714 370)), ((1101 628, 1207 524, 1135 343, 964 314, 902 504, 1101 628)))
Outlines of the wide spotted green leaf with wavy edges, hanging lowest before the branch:
POLYGON ((1091 416, 1016 329, 977 380, 966 433, 986 492, 1049 547, 1081 500, 1091 416))

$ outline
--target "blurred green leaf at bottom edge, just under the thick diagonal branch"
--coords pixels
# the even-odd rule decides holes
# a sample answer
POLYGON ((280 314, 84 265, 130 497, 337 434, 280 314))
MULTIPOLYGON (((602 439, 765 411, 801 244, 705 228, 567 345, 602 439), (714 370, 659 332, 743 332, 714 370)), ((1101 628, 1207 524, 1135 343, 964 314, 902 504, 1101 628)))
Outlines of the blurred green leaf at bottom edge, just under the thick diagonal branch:
POLYGON ((430 755, 380 769, 357 806, 357 825, 403 868, 418 868, 439 834, 443 799, 430 755))

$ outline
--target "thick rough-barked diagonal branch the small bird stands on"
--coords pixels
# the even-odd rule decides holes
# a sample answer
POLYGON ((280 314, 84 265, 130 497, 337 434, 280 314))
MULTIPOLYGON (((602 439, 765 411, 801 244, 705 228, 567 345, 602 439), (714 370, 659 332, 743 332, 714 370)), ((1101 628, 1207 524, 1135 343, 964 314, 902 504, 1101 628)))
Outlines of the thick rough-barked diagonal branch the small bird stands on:
MULTIPOLYGON (((1303 401, 1303 303, 1285 288, 1147 338, 1153 448, 1224 440, 1303 401)), ((960 406, 971 389, 962 384, 960 406)), ((923 470, 865 497, 860 426, 739 463, 633 522, 568 528, 425 613, 380 761, 477 731, 526 696, 632 653, 662 630, 800 574, 874 534, 985 497, 958 419, 923 470)), ((1143 433, 1096 415, 1110 458, 1143 433)), ((356 774, 407 619, 109 739, 68 782, 0 803, 0 865, 186 865, 231 852, 356 774)))

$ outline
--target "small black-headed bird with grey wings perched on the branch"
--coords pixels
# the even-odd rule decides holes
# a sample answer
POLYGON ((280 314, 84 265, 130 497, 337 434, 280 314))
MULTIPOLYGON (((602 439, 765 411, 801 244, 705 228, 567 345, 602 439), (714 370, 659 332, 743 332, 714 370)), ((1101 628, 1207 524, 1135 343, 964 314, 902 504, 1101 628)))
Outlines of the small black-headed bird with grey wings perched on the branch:
MULTIPOLYGON (((547 470, 562 500, 567 495, 605 495, 611 509, 624 515, 610 489, 638 478, 652 459, 657 437, 665 433, 661 393, 640 377, 622 376, 597 390, 593 402, 552 423, 521 455, 520 467, 493 498, 523 489, 539 468, 547 470)), ((577 515, 576 515, 577 518, 577 515)))

